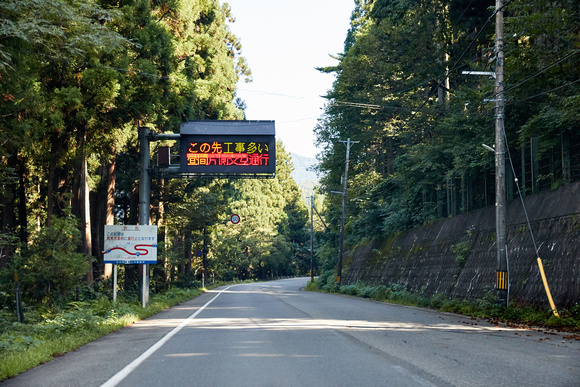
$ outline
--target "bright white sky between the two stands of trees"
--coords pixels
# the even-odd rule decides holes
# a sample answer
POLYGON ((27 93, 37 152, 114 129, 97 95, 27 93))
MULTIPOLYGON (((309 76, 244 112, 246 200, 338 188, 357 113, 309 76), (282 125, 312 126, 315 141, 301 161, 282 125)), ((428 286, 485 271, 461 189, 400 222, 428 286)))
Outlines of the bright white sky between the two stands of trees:
POLYGON ((287 152, 315 157, 314 127, 334 75, 316 67, 338 64, 354 0, 223 0, 236 21, 253 82, 238 83, 246 119, 274 120, 287 152))

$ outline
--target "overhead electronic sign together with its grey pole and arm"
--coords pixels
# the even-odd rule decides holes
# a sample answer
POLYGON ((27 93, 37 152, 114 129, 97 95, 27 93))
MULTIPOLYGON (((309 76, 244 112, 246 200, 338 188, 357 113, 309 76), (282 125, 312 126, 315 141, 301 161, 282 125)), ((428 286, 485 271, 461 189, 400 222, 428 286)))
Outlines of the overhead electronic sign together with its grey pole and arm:
MULTIPOLYGON (((139 218, 141 226, 149 225, 151 176, 158 178, 264 179, 273 178, 276 175, 274 121, 187 121, 181 124, 179 134, 152 133, 149 128, 141 127, 139 128, 139 141, 141 153, 139 218), (157 167, 150 167, 149 143, 158 140, 178 140, 180 142, 179 167, 171 165, 168 147, 164 148, 166 153, 162 157, 159 157, 161 155, 158 154, 158 159, 163 160, 163 162, 159 163, 160 165, 157 167)), ((234 222, 233 218, 232 222, 234 222)), ((123 251, 117 246, 113 248, 115 251, 123 251)), ((128 249, 124 250, 128 251, 128 249)), ((143 258, 141 257, 142 250, 136 251, 138 252, 135 252, 135 256, 139 254, 139 257, 143 258)), ((139 261, 144 262, 142 259, 139 261)), ((145 307, 149 303, 149 264, 144 262, 142 265, 140 298, 143 307, 145 307)), ((115 283, 116 272, 115 264, 115 283)))

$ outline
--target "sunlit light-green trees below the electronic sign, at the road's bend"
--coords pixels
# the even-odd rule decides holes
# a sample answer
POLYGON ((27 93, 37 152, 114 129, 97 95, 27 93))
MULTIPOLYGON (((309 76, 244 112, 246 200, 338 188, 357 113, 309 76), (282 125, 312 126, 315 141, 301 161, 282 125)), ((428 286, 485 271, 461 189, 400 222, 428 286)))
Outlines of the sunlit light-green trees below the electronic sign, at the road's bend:
POLYGON ((280 143, 276 158, 275 179, 239 180, 227 187, 228 211, 221 219, 235 213, 242 221, 224 222, 213 231, 211 264, 223 279, 267 279, 307 271, 302 262, 309 241, 308 211, 280 143))

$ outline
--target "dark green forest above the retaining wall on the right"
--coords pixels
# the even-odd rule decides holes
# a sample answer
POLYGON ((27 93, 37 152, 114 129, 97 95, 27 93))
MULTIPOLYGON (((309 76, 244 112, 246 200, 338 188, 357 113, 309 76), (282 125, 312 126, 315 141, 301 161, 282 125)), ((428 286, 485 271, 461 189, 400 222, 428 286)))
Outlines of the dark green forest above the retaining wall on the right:
MULTIPOLYGON (((495 203, 495 2, 357 0, 324 115, 315 129, 320 190, 340 190, 350 138, 345 243, 495 203), (341 142, 342 141, 342 142, 341 142)), ((580 7, 506 0, 503 51, 508 200, 580 180, 580 7)), ((332 235, 317 253, 336 267, 332 235)), ((347 247, 348 248, 348 247, 347 247)), ((329 275, 328 278, 331 278, 329 275)))

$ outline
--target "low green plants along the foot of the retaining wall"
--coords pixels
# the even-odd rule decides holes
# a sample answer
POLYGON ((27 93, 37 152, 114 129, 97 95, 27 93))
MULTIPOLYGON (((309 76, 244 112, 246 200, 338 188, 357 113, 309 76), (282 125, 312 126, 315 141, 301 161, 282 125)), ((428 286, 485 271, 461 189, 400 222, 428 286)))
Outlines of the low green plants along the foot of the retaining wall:
POLYGON ((575 334, 580 340, 580 305, 571 310, 558 310, 556 317, 551 310, 537 310, 531 307, 518 307, 512 303, 509 307, 496 303, 493 291, 476 301, 448 299, 443 294, 428 297, 422 293, 412 293, 399 284, 367 285, 363 282, 338 285, 334 273, 324 272, 317 280, 308 282, 307 290, 327 293, 346 294, 376 301, 391 302, 400 305, 431 308, 442 312, 457 313, 471 317, 487 318, 501 321, 508 325, 527 325, 552 328, 575 334))

